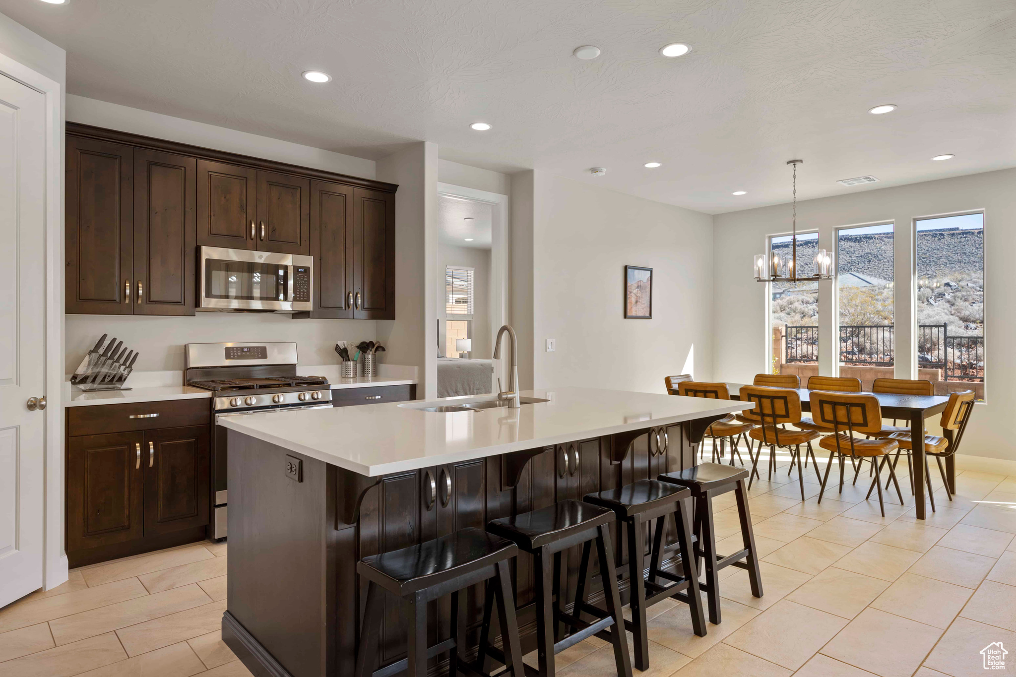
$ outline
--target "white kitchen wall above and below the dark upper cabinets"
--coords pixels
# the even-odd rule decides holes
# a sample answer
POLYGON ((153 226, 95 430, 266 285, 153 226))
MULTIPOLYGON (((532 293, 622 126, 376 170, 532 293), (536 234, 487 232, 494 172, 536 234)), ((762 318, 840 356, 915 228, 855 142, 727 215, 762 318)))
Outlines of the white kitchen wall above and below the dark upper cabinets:
MULTIPOLYGON (((67 119, 366 179, 375 175, 373 160, 83 96, 67 97, 67 119)), ((293 320, 283 315, 246 313, 197 313, 193 318, 68 315, 65 324, 64 366, 68 374, 103 334, 116 336, 124 345, 139 350, 134 368, 140 370, 182 369, 185 343, 296 341, 301 363, 322 364, 337 361, 333 350, 336 341, 377 337, 376 323, 370 320, 293 320)), ((382 361, 397 363, 381 355, 382 361)))

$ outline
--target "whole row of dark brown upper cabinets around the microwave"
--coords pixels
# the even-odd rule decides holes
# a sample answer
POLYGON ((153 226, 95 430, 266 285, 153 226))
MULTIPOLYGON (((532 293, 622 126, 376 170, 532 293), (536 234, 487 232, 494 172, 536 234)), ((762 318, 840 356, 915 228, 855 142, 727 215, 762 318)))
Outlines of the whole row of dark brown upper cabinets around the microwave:
POLYGON ((313 255, 295 318, 394 320, 397 188, 67 123, 66 312, 194 315, 205 246, 313 255))

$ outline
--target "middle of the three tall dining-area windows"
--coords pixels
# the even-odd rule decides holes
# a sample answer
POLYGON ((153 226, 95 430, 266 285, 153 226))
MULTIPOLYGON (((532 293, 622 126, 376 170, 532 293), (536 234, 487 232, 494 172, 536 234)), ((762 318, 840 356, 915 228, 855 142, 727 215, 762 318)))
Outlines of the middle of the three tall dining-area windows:
MULTIPOLYGON (((836 231, 836 293, 841 366, 891 367, 893 354, 893 225, 836 231)), ((849 373, 870 387, 877 373, 849 373)), ((878 375, 891 379, 892 370, 878 375)))

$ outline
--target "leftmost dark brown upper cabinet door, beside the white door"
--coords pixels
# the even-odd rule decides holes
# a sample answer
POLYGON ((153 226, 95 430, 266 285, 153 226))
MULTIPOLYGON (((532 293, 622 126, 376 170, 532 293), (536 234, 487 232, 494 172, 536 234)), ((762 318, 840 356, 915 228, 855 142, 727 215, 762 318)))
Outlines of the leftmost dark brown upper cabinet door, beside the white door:
POLYGON ((67 313, 134 313, 133 157, 130 146, 67 137, 67 313))

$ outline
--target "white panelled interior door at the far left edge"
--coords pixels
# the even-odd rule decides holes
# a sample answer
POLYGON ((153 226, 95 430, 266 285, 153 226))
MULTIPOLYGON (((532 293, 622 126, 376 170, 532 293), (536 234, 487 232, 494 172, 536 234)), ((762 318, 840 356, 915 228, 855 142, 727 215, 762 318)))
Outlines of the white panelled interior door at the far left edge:
POLYGON ((43 586, 45 105, 0 75, 0 606, 43 586))

